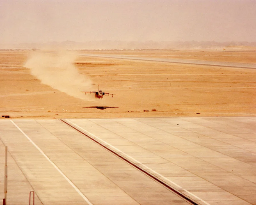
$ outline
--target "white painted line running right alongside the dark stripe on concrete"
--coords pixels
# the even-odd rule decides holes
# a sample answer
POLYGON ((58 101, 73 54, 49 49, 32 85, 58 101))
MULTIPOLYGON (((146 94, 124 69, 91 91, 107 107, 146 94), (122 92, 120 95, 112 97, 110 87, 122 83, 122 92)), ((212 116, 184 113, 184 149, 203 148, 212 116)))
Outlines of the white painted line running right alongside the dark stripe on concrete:
POLYGON ((168 182, 170 182, 170 183, 173 184, 174 186, 176 186, 176 187, 182 189, 183 191, 187 192, 187 193, 190 194, 191 196, 194 196, 195 198, 197 198, 197 199, 200 200, 201 202, 205 203, 206 205, 210 205, 209 203, 207 203, 207 202, 204 201, 203 199, 201 199, 201 198, 199 198, 198 196, 192 194, 190 191, 187 191, 186 189, 183 189, 183 187, 177 185, 175 182, 169 180, 168 178, 166 178, 165 176, 161 175, 160 173, 158 173, 158 172, 154 171, 153 169, 149 168, 148 166, 142 164, 141 162, 139 162, 138 160, 134 159, 133 157, 130 157, 129 155, 127 155, 126 153, 122 152, 122 151, 119 150, 118 148, 112 146, 111 144, 108 144, 106 141, 104 141, 104 140, 102 140, 102 139, 96 137, 96 136, 95 136, 94 134, 92 134, 91 132, 88 132, 87 130, 81 128, 80 126, 76 125, 75 123, 73 123, 73 122, 71 122, 71 121, 69 121, 69 120, 66 120, 66 121, 68 121, 69 123, 73 124, 73 125, 76 126, 77 128, 83 130, 86 134, 90 135, 91 137, 94 137, 94 138, 96 138, 96 139, 102 141, 104 144, 107 144, 108 146, 112 147, 114 150, 117 150, 119 153, 122 153, 122 154, 123 154, 124 156, 126 156, 127 158, 132 159, 133 162, 136 162, 136 163, 139 164, 140 166, 146 168, 147 170, 150 170, 151 172, 153 172, 153 173, 155 173, 156 175, 158 175, 158 177, 167 180, 168 182))

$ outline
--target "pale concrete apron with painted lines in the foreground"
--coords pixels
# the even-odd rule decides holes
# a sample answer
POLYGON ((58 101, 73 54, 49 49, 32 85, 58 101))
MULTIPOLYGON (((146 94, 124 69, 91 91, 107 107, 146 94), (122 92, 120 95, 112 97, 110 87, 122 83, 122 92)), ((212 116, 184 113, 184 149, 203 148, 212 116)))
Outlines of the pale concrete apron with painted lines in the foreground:
POLYGON ((256 117, 1 119, 0 187, 8 146, 9 204, 256 204, 255 136, 256 117))

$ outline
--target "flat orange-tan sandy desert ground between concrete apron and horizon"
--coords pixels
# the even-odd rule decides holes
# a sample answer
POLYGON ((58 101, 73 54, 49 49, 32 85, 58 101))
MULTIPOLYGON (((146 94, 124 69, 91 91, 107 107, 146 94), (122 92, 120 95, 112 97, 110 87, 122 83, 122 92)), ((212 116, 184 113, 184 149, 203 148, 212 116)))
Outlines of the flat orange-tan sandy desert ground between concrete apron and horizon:
MULTIPOLYGON (((73 66, 117 96, 76 98, 43 84, 25 64, 35 51, 0 51, 0 115, 11 118, 256 116, 256 70, 107 59, 79 53, 256 63, 255 51, 80 51, 73 66), (108 108, 88 108, 96 107, 108 108), (155 111, 153 111, 155 110, 155 111)), ((55 54, 47 54, 54 56, 55 54)), ((38 60, 38 59, 37 59, 38 60)), ((63 66, 63 65, 62 65, 63 66)), ((55 75, 55 74, 54 74, 55 75)), ((60 77, 61 78, 61 77, 60 77)), ((61 78, 62 79, 62 78, 61 78)), ((76 80, 73 80, 75 83, 76 80)), ((68 85, 63 80, 63 85, 68 85)), ((79 84, 78 84, 79 87, 79 84)), ((79 91, 76 91, 80 93, 79 91)), ((1 119, 3 119, 1 117, 1 119)))

